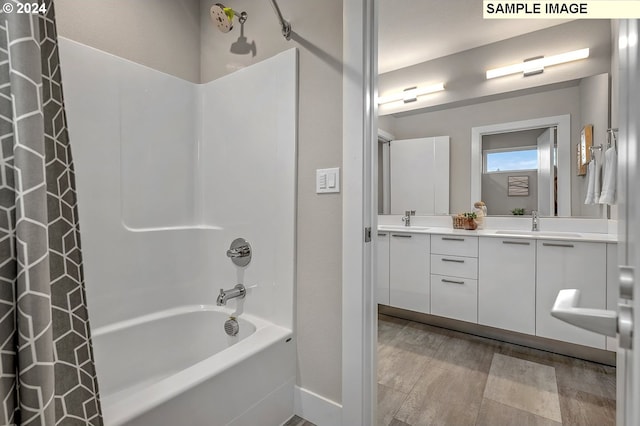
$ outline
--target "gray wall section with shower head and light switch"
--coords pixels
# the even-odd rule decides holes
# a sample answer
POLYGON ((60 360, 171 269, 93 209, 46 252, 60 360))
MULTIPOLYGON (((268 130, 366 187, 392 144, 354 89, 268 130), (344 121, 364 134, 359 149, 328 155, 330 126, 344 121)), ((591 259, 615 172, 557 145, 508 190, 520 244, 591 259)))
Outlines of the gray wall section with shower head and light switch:
POLYGON ((315 170, 342 166, 342 0, 280 0, 293 34, 286 41, 269 1, 235 0, 253 53, 230 52, 236 22, 223 34, 209 23, 214 0, 201 7, 201 76, 207 82, 290 47, 300 51, 298 119, 297 332, 298 385, 341 401, 342 198, 316 194, 315 170))

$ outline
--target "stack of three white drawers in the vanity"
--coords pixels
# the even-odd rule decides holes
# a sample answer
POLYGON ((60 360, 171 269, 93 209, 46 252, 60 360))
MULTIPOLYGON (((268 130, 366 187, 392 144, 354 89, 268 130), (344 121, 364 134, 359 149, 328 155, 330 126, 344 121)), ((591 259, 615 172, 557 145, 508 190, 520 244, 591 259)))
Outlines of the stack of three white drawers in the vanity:
POLYGON ((431 314, 478 322, 478 237, 431 236, 431 314))

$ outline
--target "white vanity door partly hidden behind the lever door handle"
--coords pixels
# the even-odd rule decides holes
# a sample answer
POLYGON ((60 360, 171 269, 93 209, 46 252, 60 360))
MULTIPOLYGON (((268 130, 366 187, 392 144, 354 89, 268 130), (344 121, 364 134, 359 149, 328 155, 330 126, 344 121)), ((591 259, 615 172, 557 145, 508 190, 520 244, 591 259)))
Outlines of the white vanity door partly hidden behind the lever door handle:
POLYGON ((605 348, 605 337, 551 316, 562 289, 580 290, 580 307, 605 309, 607 248, 605 243, 538 240, 536 262, 536 335, 605 348))

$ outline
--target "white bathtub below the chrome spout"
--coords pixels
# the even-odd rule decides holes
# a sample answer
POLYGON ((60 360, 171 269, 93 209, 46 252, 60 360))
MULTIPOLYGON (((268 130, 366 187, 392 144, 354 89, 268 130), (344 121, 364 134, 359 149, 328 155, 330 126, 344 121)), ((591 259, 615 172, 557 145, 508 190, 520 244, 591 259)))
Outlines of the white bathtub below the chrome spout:
POLYGON ((106 426, 280 425, 293 413, 291 330, 232 311, 183 306, 92 333, 106 426))

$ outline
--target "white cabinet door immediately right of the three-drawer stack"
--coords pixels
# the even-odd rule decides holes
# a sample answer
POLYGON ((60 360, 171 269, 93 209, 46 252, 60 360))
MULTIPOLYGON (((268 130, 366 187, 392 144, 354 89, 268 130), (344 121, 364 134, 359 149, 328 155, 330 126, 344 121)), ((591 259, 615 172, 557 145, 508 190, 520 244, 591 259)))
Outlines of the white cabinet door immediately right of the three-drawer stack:
POLYGON ((478 323, 536 332, 536 242, 480 238, 478 323))

